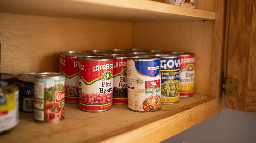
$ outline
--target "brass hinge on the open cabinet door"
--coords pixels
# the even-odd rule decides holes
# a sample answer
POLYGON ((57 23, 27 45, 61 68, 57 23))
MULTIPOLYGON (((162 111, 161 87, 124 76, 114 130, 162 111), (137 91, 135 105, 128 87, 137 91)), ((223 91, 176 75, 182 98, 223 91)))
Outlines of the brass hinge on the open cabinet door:
POLYGON ((228 96, 238 96, 239 81, 236 79, 224 78, 222 88, 228 96))

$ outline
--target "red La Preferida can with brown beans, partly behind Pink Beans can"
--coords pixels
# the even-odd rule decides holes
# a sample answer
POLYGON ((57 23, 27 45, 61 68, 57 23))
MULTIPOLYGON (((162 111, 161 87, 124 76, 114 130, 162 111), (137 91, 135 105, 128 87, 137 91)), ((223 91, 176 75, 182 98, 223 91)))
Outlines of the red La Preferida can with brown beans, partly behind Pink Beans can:
POLYGON ((65 102, 78 103, 78 58, 92 54, 80 51, 66 51, 60 53, 60 72, 65 74, 65 102))

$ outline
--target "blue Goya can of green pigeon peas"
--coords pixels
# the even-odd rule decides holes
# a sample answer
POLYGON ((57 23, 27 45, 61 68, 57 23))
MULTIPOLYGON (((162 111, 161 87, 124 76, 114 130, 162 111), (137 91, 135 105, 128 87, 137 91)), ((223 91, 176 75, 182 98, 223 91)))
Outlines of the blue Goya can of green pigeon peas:
POLYGON ((175 104, 180 101, 180 56, 156 54, 161 57, 161 102, 175 104))

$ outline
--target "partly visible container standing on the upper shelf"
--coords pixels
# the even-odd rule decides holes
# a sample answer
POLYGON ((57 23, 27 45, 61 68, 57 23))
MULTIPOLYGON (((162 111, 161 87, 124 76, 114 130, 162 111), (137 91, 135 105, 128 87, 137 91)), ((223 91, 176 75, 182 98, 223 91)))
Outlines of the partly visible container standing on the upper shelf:
POLYGON ((186 8, 196 8, 196 0, 165 0, 165 3, 186 8))

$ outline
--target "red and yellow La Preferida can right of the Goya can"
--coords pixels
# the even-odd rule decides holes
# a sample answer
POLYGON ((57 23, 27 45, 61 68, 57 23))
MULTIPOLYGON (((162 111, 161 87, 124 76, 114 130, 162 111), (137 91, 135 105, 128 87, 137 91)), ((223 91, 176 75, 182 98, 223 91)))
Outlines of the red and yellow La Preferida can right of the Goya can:
POLYGON ((180 56, 180 97, 191 97, 194 94, 195 54, 173 52, 180 56))

